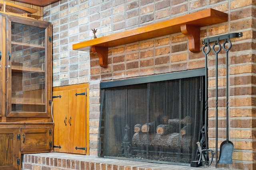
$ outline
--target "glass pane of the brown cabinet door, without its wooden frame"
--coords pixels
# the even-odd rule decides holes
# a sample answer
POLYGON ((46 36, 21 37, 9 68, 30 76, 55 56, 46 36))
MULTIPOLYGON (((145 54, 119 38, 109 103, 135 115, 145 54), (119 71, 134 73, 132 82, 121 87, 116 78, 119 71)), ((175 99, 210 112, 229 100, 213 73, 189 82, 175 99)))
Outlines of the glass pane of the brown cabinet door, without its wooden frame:
POLYGON ((45 29, 11 24, 12 111, 46 111, 45 29))

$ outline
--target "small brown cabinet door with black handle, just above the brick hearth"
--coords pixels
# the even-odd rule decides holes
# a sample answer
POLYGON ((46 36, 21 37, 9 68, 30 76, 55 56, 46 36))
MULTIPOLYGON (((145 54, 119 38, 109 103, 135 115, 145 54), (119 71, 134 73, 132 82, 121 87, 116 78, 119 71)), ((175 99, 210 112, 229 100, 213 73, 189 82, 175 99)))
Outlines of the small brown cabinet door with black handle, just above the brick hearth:
POLYGON ((51 127, 21 128, 20 150, 23 153, 50 151, 51 127))

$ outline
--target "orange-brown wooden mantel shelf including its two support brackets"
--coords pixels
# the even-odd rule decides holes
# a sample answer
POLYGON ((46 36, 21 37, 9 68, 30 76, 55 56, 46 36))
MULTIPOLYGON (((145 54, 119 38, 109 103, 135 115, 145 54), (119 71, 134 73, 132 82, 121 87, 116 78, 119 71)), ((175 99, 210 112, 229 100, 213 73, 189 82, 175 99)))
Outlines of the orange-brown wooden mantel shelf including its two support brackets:
POLYGON ((109 47, 182 32, 188 37, 190 51, 196 53, 200 51, 200 27, 226 21, 228 21, 228 14, 210 8, 144 27, 73 44, 73 50, 96 53, 99 57, 100 66, 108 67, 109 47))

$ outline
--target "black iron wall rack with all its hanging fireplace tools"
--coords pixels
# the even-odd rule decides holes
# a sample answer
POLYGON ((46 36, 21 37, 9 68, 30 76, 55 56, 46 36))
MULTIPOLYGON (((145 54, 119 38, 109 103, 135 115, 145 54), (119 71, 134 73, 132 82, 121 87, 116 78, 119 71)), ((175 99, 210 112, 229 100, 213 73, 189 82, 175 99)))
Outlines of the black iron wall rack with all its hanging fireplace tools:
POLYGON ((228 141, 229 139, 229 131, 228 131, 228 123, 229 123, 229 119, 228 119, 228 52, 230 51, 231 47, 232 47, 232 43, 230 41, 230 38, 238 38, 238 37, 242 37, 242 32, 240 33, 230 33, 230 34, 226 34, 226 35, 220 35, 220 36, 216 36, 216 37, 210 37, 210 38, 206 38, 202 41, 202 44, 204 45, 202 48, 202 52, 204 53, 205 56, 205 76, 206 76, 206 80, 205 80, 205 122, 207 122, 208 119, 208 59, 207 59, 207 55, 210 53, 211 49, 215 54, 215 60, 216 60, 216 68, 215 68, 215 79, 216 79, 216 125, 215 125, 215 135, 216 135, 216 144, 215 144, 215 152, 213 152, 212 150, 208 149, 208 141, 207 141, 207 133, 205 133, 205 142, 206 142, 206 149, 202 149, 200 152, 200 158, 198 161, 198 164, 200 164, 200 162, 207 162, 208 166, 212 163, 213 160, 213 156, 215 155, 215 167, 218 167, 218 163, 221 164, 232 164, 232 152, 233 152, 233 144, 232 142, 228 141), (223 44, 220 44, 220 41, 224 40, 223 44), (212 48, 210 47, 210 43, 214 42, 214 44, 212 45, 212 48), (227 47, 226 47, 227 46, 227 47), (219 158, 219 162, 218 160, 218 53, 221 51, 221 49, 224 49, 226 51, 226 141, 224 141, 222 143, 222 145, 220 145, 220 158, 219 158), (230 153, 228 153, 226 156, 226 158, 223 158, 224 160, 220 160, 222 159, 222 155, 221 155, 221 151, 222 151, 222 147, 225 144, 229 145, 227 147, 227 149, 230 150, 226 150, 230 153), (212 153, 212 157, 210 160, 207 161, 203 161, 201 160, 202 157, 204 157, 204 153, 208 154, 208 152, 212 153), (226 160, 229 159, 229 160, 226 160))

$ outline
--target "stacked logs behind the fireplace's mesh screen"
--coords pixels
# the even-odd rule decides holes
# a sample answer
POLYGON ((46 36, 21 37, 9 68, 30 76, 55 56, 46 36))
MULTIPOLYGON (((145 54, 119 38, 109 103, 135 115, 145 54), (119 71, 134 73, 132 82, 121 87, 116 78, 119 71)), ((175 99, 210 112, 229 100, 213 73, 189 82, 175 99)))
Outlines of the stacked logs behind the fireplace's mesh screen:
POLYGON ((181 149, 190 152, 194 126, 192 118, 186 116, 184 119, 170 119, 160 115, 157 119, 156 122, 161 124, 152 122, 134 126, 132 145, 138 150, 147 150, 146 146, 151 146, 158 148, 158 151, 181 149))

